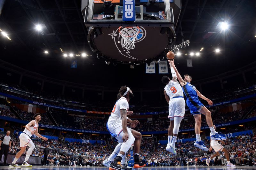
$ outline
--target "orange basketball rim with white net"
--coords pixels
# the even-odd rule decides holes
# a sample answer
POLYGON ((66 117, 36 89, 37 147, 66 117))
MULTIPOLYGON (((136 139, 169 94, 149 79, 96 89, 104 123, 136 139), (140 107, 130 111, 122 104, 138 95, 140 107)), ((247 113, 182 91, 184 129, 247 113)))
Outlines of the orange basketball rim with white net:
POLYGON ((124 39, 123 47, 125 49, 134 49, 134 41, 137 37, 137 35, 140 33, 140 27, 139 26, 126 26, 122 27, 120 26, 118 28, 119 33, 124 39))

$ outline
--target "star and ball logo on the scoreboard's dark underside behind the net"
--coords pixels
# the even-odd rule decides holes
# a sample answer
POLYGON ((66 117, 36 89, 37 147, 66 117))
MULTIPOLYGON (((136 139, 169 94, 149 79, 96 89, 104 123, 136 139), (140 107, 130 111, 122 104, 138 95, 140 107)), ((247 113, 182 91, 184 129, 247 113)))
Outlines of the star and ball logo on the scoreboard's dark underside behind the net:
MULTIPOLYGON (((127 58, 138 60, 137 58, 133 57, 131 54, 133 49, 128 50, 128 49, 124 48, 124 46, 123 46, 124 38, 118 32, 118 28, 116 29, 116 31, 113 30, 113 33, 110 33, 108 35, 110 35, 112 37, 112 39, 114 40, 116 48, 118 49, 120 54, 124 55, 127 58)), ((134 43, 144 40, 146 35, 147 35, 147 32, 146 32, 145 28, 140 26, 139 34, 136 36, 134 43)))

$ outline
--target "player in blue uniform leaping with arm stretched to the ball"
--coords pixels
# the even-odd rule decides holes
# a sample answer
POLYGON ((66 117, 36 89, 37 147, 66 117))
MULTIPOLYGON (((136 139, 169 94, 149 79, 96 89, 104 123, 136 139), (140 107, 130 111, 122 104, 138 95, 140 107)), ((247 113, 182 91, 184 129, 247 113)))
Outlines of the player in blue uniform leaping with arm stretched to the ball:
POLYGON ((180 76, 180 73, 178 72, 177 68, 175 67, 174 60, 170 61, 169 63, 172 64, 172 67, 174 68, 177 78, 180 81, 180 85, 182 86, 182 90, 184 94, 186 95, 186 103, 187 106, 190 109, 190 113, 195 118, 195 132, 196 132, 196 142, 194 145, 204 151, 208 151, 209 149, 204 145, 203 141, 200 137, 200 129, 201 129, 201 114, 205 115, 206 122, 211 130, 211 139, 212 140, 226 140, 226 137, 222 137, 218 134, 218 132, 215 131, 212 123, 212 116, 211 112, 204 106, 201 101, 199 101, 198 97, 206 100, 210 106, 212 106, 212 101, 208 98, 206 98, 203 94, 201 94, 198 90, 196 90, 196 87, 194 85, 191 85, 190 82, 192 80, 191 76, 186 74, 184 76, 184 80, 180 76))

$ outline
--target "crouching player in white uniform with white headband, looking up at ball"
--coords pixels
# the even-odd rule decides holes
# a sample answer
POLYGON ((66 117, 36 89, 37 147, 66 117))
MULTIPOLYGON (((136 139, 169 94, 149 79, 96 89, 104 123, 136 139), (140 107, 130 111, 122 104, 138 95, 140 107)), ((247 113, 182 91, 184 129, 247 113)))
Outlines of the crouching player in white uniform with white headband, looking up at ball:
POLYGON ((108 118, 108 130, 119 142, 123 142, 119 153, 117 154, 114 162, 109 166, 109 170, 121 170, 121 160, 126 152, 132 146, 135 138, 132 132, 127 128, 127 111, 129 109, 129 101, 134 97, 132 90, 129 87, 121 87, 121 98, 116 101, 116 104, 112 110, 111 115, 108 118))

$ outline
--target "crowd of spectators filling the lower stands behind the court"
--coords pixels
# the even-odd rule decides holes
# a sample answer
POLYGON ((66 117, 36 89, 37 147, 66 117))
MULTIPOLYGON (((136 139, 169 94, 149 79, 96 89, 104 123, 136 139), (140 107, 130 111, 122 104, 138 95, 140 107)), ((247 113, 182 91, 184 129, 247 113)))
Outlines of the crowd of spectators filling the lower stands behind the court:
MULTIPOLYGON (((102 166, 102 161, 106 159, 116 146, 116 142, 110 141, 96 144, 85 144, 77 142, 65 142, 64 145, 57 140, 42 141, 40 138, 32 138, 36 145, 32 156, 43 155, 43 148, 49 145, 47 165, 59 166, 102 166)), ((205 145, 209 148, 209 140, 205 140, 205 145)), ((20 142, 12 139, 11 153, 19 152, 20 142)), ((213 152, 202 152, 194 146, 194 141, 186 143, 176 143, 176 152, 165 150, 166 145, 157 143, 155 138, 142 139, 140 159, 147 166, 206 166, 205 159, 208 159, 213 152)), ((225 147, 230 153, 230 161, 234 165, 254 165, 256 162, 256 135, 240 135, 228 138, 225 147)), ((26 154, 26 152, 24 152, 26 154)), ((126 160, 129 160, 130 152, 127 153, 126 160)), ((227 159, 224 153, 212 159, 210 165, 225 165, 227 159)))

